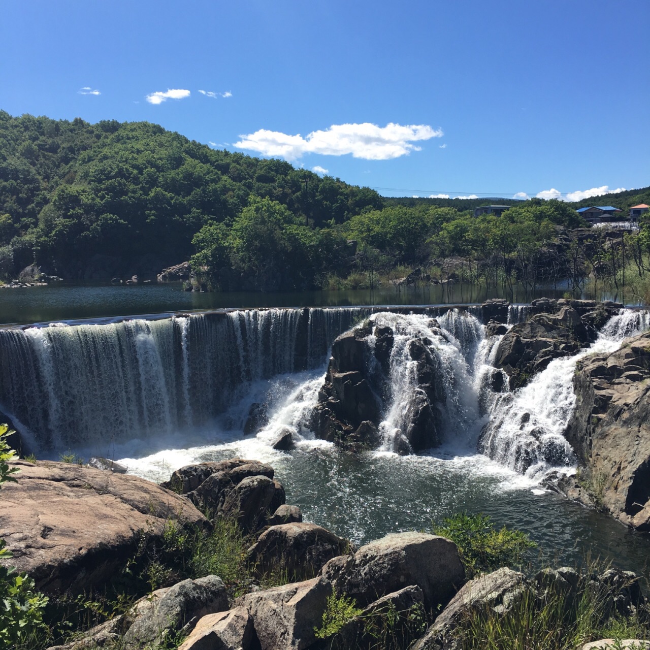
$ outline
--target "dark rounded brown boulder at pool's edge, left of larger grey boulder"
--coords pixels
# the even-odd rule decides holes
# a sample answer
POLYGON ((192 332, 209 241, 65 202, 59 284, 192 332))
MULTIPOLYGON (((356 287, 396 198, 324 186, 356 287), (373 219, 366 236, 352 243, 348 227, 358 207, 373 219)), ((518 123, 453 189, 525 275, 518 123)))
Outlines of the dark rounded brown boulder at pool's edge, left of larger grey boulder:
POLYGON ((350 551, 351 544, 333 532, 309 523, 270 526, 248 549, 248 562, 261 575, 279 571, 291 580, 313 578, 331 560, 350 551))

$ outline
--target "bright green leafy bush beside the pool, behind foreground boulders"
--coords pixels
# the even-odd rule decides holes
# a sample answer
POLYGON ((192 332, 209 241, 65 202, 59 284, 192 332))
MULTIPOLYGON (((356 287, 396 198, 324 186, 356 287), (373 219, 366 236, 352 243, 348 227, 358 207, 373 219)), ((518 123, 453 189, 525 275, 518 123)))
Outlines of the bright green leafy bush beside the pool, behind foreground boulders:
POLYGON ((497 530, 490 517, 482 513, 456 513, 443 519, 443 525, 434 526, 434 533, 456 544, 471 576, 521 564, 525 551, 537 546, 521 530, 510 530, 505 526, 497 530))

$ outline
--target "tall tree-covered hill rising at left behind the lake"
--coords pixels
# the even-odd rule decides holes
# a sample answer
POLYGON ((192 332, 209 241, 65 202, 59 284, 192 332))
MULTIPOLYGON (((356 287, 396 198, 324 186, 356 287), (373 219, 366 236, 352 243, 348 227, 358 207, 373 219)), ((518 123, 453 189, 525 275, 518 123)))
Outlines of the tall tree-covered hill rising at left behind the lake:
POLYGON ((369 188, 215 151, 147 122, 0 112, 0 246, 11 246, 16 266, 35 253, 59 274, 83 277, 94 255, 133 268, 148 255, 160 270, 190 257, 205 224, 232 224, 250 194, 316 227, 383 206, 369 188))

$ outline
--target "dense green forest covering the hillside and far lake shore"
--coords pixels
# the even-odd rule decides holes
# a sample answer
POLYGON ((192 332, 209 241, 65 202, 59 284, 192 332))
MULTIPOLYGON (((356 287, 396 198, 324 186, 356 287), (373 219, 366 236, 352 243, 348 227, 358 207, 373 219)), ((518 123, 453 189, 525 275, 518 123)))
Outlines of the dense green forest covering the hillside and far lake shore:
MULTIPOLYGON (((627 208, 650 188, 590 199, 627 208)), ((388 199, 288 162, 218 151, 159 125, 0 112, 0 280, 153 277, 188 259, 197 287, 502 285, 645 277, 640 235, 587 229, 562 201, 388 199), (477 205, 512 205, 473 216, 477 205), (626 239, 627 238, 627 239, 626 239)))

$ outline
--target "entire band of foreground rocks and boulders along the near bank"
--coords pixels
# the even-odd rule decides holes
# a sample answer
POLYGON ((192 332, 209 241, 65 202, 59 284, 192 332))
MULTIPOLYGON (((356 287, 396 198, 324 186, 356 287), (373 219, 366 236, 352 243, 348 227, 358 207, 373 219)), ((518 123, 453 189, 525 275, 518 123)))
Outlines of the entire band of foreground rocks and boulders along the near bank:
POLYGON ((9 562, 53 597, 99 593, 142 548, 143 536, 155 549, 170 523, 205 530, 218 519, 250 533, 247 561, 260 578, 277 569, 289 578, 266 589, 252 584, 235 599, 217 575, 179 580, 58 650, 145 650, 171 647, 172 638, 182 639, 180 650, 385 647, 376 643, 387 621, 400 647, 460 650, 471 617, 504 616, 526 599, 543 603, 560 594, 572 603, 589 588, 602 595, 604 619, 645 608, 638 578, 617 569, 584 577, 565 567, 526 577, 504 567, 467 580, 458 548, 439 536, 390 534, 355 549, 302 522, 272 467, 258 461, 183 467, 164 486, 66 463, 14 466, 18 482, 0 491, 0 538, 14 552, 9 562), (197 506, 213 513, 212 521, 197 506), (317 635, 333 597, 354 599, 357 609, 334 633, 317 635))

